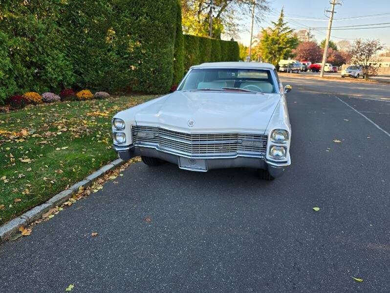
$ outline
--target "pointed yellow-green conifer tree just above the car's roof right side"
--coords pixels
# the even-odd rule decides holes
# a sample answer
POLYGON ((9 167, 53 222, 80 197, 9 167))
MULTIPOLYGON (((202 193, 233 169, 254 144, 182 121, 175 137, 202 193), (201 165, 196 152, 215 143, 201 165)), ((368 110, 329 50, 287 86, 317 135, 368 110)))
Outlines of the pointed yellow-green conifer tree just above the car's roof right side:
POLYGON ((261 31, 258 45, 261 59, 275 66, 278 65, 281 59, 290 57, 292 50, 299 44, 298 38, 293 35, 293 30, 287 26, 283 18, 282 9, 278 21, 276 23, 272 22, 274 26, 261 31))

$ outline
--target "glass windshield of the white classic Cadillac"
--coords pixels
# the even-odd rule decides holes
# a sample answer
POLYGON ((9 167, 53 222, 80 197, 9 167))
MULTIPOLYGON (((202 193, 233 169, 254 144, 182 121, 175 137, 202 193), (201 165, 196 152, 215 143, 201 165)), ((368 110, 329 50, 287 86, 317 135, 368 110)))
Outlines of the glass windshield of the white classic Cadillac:
POLYGON ((273 93, 276 88, 267 69, 195 68, 178 90, 228 90, 273 93))

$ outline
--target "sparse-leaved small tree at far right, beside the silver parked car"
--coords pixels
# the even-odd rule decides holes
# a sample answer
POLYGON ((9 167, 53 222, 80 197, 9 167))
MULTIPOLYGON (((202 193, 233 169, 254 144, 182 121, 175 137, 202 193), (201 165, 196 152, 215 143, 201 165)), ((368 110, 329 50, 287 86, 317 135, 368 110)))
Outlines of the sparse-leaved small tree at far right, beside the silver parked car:
POLYGON ((351 56, 351 63, 363 68, 366 80, 378 71, 381 62, 378 52, 383 48, 380 40, 356 39, 350 46, 348 53, 351 56))

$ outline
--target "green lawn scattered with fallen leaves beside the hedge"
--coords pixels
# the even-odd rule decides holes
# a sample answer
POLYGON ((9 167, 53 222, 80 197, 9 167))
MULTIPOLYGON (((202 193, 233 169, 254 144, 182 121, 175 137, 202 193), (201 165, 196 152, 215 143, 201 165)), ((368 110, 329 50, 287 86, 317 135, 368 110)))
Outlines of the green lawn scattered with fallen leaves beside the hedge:
POLYGON ((112 116, 156 96, 119 96, 0 113, 0 225, 117 158, 112 116))

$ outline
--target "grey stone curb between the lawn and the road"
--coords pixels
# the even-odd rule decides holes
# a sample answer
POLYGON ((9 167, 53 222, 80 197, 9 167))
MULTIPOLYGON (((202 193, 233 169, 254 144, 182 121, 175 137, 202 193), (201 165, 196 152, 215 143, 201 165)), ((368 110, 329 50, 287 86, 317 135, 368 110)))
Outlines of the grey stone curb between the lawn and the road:
POLYGON ((107 165, 101 167, 96 172, 93 172, 92 174, 87 176, 84 180, 81 180, 76 184, 70 186, 68 189, 65 189, 60 193, 56 194, 46 203, 42 203, 41 205, 33 207, 19 217, 12 219, 8 223, 0 226, 0 243, 10 239, 13 235, 18 233, 20 226, 30 225, 31 223, 41 218, 42 215, 52 207, 65 203, 69 198, 72 197, 75 192, 79 190, 79 187, 85 188, 92 185, 95 180, 105 175, 108 171, 111 171, 112 169, 124 164, 124 162, 125 161, 120 158, 113 160, 107 165))

